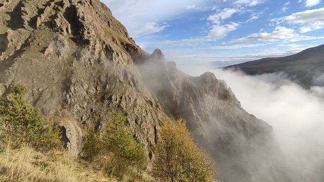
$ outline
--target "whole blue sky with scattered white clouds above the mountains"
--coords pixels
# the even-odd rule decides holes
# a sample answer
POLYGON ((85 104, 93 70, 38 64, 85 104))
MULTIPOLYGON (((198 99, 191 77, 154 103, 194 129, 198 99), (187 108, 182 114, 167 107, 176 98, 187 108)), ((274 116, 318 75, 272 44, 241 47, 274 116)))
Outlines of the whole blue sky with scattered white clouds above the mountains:
POLYGON ((226 66, 324 44, 324 0, 102 0, 148 53, 226 66))

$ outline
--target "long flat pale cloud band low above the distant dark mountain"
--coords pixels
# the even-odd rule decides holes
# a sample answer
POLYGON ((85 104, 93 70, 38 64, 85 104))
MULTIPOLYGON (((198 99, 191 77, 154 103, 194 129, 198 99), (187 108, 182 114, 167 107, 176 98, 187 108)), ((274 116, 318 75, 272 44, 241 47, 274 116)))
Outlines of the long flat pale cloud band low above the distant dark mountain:
MULTIPOLYGON (((165 51, 167 59, 177 61, 179 68, 181 64, 188 63, 203 64, 213 62, 213 67, 223 67, 242 62, 259 60, 268 57, 282 57, 299 53, 305 49, 315 47, 315 44, 277 44, 277 43, 247 43, 233 45, 218 45, 196 49, 170 49, 165 51)), ((205 70, 206 71, 206 70, 205 70)))

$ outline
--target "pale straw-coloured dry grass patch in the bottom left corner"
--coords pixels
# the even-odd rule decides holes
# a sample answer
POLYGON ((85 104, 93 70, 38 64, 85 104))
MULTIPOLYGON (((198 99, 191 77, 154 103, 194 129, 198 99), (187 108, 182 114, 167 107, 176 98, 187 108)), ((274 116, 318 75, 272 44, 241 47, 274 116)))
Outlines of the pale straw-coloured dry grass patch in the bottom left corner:
POLYGON ((42 154, 29 147, 0 151, 0 181, 117 181, 67 156, 65 152, 42 154))

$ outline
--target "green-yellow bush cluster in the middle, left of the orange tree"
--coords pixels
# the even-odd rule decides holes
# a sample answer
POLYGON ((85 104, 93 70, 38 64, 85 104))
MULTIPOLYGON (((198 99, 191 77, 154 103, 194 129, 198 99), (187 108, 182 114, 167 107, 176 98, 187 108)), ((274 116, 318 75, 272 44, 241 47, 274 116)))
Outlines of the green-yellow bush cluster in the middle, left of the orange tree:
MULTIPOLYGON (((142 145, 138 144, 131 132, 125 126, 126 117, 118 112, 112 114, 112 121, 106 126, 105 132, 100 135, 91 127, 83 143, 82 154, 88 161, 93 161, 96 156, 106 156, 114 163, 114 169, 125 166, 135 166, 137 169, 146 169, 147 156, 142 145)), ((102 157, 104 160, 105 157, 102 157)), ((112 168, 104 166, 111 172, 112 168)))

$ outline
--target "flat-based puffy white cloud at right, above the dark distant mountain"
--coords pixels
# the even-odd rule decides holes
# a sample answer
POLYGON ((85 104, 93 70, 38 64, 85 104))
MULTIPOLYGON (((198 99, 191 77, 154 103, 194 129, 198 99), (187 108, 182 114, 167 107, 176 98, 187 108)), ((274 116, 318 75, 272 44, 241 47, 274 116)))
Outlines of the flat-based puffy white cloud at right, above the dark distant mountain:
POLYGON ((253 33, 246 37, 238 38, 233 40, 233 42, 251 42, 251 41, 301 41, 301 40, 314 40, 314 39, 324 39, 324 36, 314 37, 314 36, 305 36, 299 35, 295 32, 294 29, 287 28, 284 26, 277 26, 271 33, 267 32, 260 32, 260 33, 253 33))

